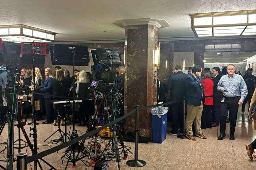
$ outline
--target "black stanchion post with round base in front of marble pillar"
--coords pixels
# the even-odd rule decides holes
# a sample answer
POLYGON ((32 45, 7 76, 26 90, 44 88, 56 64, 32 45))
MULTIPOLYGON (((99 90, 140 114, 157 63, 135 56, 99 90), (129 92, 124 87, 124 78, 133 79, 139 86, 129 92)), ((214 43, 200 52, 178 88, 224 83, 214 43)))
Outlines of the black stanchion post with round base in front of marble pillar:
POLYGON ((142 167, 146 165, 145 161, 138 160, 138 145, 139 145, 139 105, 136 105, 136 112, 135 112, 135 140, 134 140, 134 160, 129 160, 126 162, 128 166, 131 167, 142 167))

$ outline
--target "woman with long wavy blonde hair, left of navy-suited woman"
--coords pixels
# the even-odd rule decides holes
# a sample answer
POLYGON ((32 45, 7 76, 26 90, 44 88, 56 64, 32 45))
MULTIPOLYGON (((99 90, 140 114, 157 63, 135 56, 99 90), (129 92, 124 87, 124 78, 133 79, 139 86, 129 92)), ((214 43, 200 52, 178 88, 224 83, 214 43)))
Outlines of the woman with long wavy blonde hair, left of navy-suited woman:
MULTIPOLYGON (((31 73, 32 73, 32 76, 31 76, 32 80, 31 80, 31 86, 29 88, 33 91, 34 90, 34 84, 36 85, 35 88, 38 87, 38 86, 41 86, 43 78, 42 78, 42 75, 41 75, 41 71, 38 67, 35 67, 35 71, 32 69, 31 73), (34 76, 35 76, 35 83, 34 83, 34 76)), ((35 103, 36 103, 36 105, 35 105, 35 107, 36 107, 36 111, 35 111, 36 120, 43 120, 42 119, 42 114, 40 112, 40 100, 37 100, 36 96, 35 96, 35 103)))

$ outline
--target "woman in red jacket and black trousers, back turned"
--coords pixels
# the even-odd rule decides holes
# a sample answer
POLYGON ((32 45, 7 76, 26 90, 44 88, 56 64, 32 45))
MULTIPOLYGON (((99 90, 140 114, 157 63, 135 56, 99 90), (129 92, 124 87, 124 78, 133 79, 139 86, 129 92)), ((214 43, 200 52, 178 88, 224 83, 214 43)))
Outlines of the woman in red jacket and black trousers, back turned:
MULTIPOLYGON (((213 80, 211 80, 212 72, 204 71, 202 73, 201 84, 204 88, 205 96, 213 96, 213 80)), ((212 128, 212 106, 213 106, 213 97, 205 97, 205 102, 203 104, 203 111, 201 117, 201 129, 212 128)))

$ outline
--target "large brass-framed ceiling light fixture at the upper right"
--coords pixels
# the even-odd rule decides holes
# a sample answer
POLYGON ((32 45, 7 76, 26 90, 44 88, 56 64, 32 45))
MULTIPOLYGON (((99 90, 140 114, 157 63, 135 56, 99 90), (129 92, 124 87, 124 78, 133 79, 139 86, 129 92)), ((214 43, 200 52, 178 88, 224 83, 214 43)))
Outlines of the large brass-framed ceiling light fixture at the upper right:
POLYGON ((256 35, 256 10, 189 14, 196 37, 256 35))

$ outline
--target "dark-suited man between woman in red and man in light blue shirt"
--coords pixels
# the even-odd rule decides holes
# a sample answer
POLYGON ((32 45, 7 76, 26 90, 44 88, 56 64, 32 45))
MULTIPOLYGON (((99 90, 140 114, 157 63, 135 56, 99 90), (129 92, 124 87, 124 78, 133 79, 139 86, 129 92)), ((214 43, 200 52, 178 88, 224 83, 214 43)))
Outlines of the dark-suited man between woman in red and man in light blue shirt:
POLYGON ((219 72, 219 67, 213 67, 213 106, 215 111, 215 122, 212 124, 212 127, 219 126, 220 123, 220 102, 222 98, 222 92, 217 90, 217 84, 221 78, 219 72))

